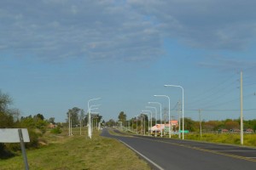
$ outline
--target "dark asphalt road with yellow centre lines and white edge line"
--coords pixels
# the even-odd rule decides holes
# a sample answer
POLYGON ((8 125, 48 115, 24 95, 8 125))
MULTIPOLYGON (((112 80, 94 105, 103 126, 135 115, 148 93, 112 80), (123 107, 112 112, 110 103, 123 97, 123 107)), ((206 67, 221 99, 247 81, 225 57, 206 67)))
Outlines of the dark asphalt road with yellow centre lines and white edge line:
POLYGON ((189 140, 161 139, 112 135, 104 128, 102 136, 119 139, 137 150, 157 166, 154 169, 173 170, 253 170, 256 169, 256 149, 225 144, 209 144, 189 140))

